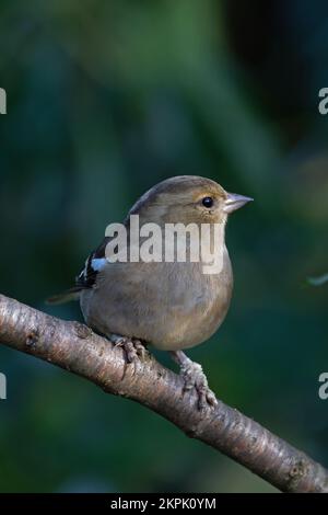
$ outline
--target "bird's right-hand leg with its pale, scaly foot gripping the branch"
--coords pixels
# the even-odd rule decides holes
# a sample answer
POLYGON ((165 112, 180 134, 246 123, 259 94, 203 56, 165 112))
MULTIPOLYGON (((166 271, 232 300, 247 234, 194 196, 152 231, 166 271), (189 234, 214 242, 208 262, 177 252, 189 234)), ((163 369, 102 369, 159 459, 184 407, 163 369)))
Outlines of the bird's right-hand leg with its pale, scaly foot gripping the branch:
POLYGON ((208 379, 202 371, 201 365, 192 362, 183 351, 172 351, 171 355, 180 367, 180 374, 185 379, 184 391, 196 388, 199 409, 204 410, 207 407, 216 405, 216 398, 209 388, 208 379))

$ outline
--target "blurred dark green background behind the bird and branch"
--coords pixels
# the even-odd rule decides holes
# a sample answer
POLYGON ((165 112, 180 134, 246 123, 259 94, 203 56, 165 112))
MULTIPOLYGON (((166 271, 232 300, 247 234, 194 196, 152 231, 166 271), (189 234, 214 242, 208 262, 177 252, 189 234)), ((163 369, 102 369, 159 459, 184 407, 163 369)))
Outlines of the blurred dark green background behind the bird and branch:
MULTIPOLYGON (((328 464, 328 4, 2 0, 0 290, 72 284, 110 221, 176 174, 256 202, 234 215, 229 317, 189 352, 225 402, 328 464)), ((167 356, 157 354, 172 366, 167 356)), ((1 492, 265 492, 131 401, 0 348, 1 492)))

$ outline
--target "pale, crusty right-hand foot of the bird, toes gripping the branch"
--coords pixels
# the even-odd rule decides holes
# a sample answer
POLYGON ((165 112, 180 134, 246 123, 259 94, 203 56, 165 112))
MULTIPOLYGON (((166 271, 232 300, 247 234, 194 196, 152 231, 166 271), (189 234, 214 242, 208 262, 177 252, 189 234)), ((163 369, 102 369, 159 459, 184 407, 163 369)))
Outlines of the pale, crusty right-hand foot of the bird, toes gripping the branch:
POLYGON ((198 408, 200 411, 207 408, 214 408, 218 404, 216 398, 212 390, 209 388, 208 379, 202 371, 199 363, 187 363, 181 366, 181 375, 185 380, 184 391, 189 391, 196 388, 198 394, 198 408))

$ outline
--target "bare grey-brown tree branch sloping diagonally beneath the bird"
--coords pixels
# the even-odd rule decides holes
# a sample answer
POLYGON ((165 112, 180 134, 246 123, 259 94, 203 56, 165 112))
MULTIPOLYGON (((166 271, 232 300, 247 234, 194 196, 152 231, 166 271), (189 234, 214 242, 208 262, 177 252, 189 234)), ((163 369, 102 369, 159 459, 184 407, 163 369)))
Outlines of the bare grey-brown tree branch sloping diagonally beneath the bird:
POLYGON ((0 295, 0 341, 128 397, 244 465, 283 492, 328 492, 328 471, 223 402, 200 413, 195 392, 152 356, 127 365, 121 348, 78 322, 56 319, 0 295))

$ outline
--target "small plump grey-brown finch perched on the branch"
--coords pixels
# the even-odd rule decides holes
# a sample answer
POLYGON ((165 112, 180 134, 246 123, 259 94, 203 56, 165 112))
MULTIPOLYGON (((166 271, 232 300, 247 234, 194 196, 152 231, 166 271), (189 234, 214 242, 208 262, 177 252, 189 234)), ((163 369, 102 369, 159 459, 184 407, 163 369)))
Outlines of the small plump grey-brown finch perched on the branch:
MULTIPOLYGON (((79 298, 85 322, 122 345, 129 362, 141 358, 143 343, 169 351, 180 366, 185 389, 197 389, 199 408, 215 404, 201 366, 183 350, 208 340, 226 316, 233 273, 225 247, 225 225, 229 215, 249 201, 200 176, 176 176, 156 184, 139 198, 124 222, 128 239, 122 254, 128 259, 113 260, 117 247, 108 254, 108 243, 114 238, 107 236, 87 258, 75 287, 50 301, 79 298), (140 227, 155 224, 161 230, 160 255, 154 261, 130 258, 133 215, 139 216, 140 227), (201 239, 199 260, 189 256, 179 262, 175 251, 174 259, 165 261, 165 230, 176 224, 190 230, 189 239, 184 240, 190 255, 192 233, 198 229, 199 236, 202 227, 219 228, 216 239, 201 239), (219 256, 216 268, 204 272, 213 252, 219 256)), ((140 248, 144 241, 144 237, 140 238, 140 248)), ((197 245, 200 248, 199 242, 197 245)))

